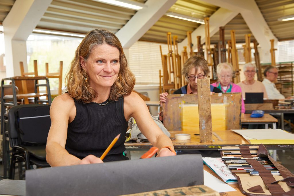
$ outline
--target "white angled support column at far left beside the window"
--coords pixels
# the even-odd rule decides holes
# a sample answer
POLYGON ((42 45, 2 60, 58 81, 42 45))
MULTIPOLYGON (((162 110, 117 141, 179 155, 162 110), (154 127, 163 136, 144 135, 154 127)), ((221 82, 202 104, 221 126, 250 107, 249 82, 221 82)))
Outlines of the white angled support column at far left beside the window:
POLYGON ((16 0, 3 21, 6 77, 20 76, 19 61, 26 60, 26 40, 52 0, 16 0))

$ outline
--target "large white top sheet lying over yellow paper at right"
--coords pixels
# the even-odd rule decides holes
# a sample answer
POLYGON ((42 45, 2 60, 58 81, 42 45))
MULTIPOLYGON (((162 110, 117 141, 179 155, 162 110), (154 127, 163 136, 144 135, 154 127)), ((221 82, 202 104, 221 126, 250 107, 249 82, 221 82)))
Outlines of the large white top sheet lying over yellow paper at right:
POLYGON ((242 135, 245 139, 255 140, 294 140, 294 134, 282 129, 240 129, 232 131, 242 135))

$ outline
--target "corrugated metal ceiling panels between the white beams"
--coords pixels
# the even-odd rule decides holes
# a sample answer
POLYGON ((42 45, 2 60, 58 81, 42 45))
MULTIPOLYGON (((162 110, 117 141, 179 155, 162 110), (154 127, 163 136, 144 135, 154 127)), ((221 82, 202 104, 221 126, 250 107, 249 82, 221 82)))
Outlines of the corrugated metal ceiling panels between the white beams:
MULTIPOLYGON (((14 2, 15 0, 0 1, 0 24, 14 2)), ((146 0, 138 0, 138 2, 144 3, 146 0)), ((279 17, 294 13, 293 0, 256 0, 256 3, 278 40, 294 39, 294 21, 277 20, 279 17)), ((178 0, 168 12, 204 19, 217 9, 217 6, 200 0, 178 0)), ((135 13, 136 11, 131 9, 93 0, 53 0, 36 29, 86 33, 93 28, 106 28, 116 33, 135 13)), ((186 38, 187 31, 194 31, 199 25, 163 15, 140 40, 166 43, 166 33, 171 32, 172 35, 177 35, 181 42, 186 38)), ((226 40, 230 39, 231 29, 235 30, 237 42, 244 42, 244 35, 251 33, 240 14, 225 25, 226 40)), ((217 32, 211 37, 211 43, 216 43, 218 40, 217 32)), ((254 40, 253 35, 251 40, 254 40)))

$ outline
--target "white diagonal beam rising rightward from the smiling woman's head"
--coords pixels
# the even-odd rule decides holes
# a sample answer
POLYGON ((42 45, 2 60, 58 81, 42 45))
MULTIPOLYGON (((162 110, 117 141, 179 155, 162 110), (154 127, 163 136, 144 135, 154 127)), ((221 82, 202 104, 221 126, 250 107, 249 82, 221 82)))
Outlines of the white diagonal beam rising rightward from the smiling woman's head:
POLYGON ((123 48, 129 48, 138 41, 175 2, 176 0, 146 1, 147 7, 137 11, 127 24, 116 32, 123 48))

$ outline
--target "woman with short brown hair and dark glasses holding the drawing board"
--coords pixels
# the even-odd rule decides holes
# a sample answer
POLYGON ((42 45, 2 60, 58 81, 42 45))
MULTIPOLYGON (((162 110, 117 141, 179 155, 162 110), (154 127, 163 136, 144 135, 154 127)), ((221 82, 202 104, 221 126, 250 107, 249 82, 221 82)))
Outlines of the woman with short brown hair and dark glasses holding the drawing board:
MULTIPOLYGON (((209 69, 207 66, 207 61, 203 56, 192 56, 188 58, 185 62, 182 74, 186 77, 186 80, 189 82, 186 86, 182 86, 173 94, 196 94, 197 93, 197 80, 207 78, 209 73, 209 69)), ((221 93, 221 91, 214 87, 210 86, 210 91, 214 93, 221 93)), ((161 93, 160 96, 160 104, 166 102, 166 96, 168 93, 161 93)))

